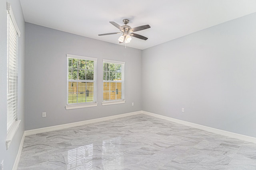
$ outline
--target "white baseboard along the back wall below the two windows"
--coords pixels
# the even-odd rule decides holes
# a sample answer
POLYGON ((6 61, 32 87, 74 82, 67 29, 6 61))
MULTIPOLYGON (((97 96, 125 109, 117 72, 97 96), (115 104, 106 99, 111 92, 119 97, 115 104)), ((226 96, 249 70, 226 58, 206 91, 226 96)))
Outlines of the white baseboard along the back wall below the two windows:
POLYGON ((43 128, 39 128, 39 129, 32 129, 32 130, 25 131, 25 135, 27 136, 27 135, 34 135, 34 134, 37 134, 37 133, 56 131, 56 130, 60 130, 60 129, 66 129, 66 128, 69 128, 69 127, 82 126, 82 125, 87 125, 87 124, 90 124, 90 123, 97 123, 97 122, 101 122, 101 121, 107 121, 107 120, 117 119, 117 118, 120 118, 120 117, 137 115, 137 114, 141 114, 141 113, 142 113, 142 111, 135 111, 135 112, 124 113, 124 114, 120 114, 120 115, 102 117, 102 118, 98 118, 98 119, 91 119, 91 120, 86 120, 86 121, 67 123, 67 124, 64 124, 64 125, 56 125, 56 126, 50 126, 50 127, 43 127, 43 128))

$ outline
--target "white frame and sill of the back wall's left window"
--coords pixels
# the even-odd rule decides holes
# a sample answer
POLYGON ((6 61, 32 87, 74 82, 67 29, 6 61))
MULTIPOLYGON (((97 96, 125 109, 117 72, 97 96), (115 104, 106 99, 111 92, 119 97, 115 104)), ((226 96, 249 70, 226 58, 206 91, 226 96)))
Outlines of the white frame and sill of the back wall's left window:
POLYGON ((71 55, 67 54, 67 105, 66 109, 78 109, 78 108, 85 108, 85 107, 96 107, 98 103, 96 102, 96 96, 97 96, 97 60, 96 58, 92 57, 84 57, 79 55, 71 55), (68 59, 81 59, 81 60, 90 60, 94 61, 94 80, 69 80, 68 79, 68 59), (93 102, 84 102, 84 103, 75 103, 75 104, 68 104, 68 82, 94 82, 94 101, 93 102))

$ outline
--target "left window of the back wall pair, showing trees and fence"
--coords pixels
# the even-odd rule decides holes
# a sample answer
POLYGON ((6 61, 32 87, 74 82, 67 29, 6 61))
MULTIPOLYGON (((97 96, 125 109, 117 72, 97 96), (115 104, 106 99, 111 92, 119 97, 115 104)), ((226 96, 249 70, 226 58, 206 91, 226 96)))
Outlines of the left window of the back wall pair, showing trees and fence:
POLYGON ((96 65, 95 58, 67 54, 66 109, 97 106, 96 65))

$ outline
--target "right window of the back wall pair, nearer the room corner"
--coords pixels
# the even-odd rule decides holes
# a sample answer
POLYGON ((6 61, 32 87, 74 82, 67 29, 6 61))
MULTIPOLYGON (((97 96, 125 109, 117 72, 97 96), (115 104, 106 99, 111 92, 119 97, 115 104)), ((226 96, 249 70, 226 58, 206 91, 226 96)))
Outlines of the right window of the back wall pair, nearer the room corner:
POLYGON ((124 62, 103 60, 102 105, 124 102, 124 62))

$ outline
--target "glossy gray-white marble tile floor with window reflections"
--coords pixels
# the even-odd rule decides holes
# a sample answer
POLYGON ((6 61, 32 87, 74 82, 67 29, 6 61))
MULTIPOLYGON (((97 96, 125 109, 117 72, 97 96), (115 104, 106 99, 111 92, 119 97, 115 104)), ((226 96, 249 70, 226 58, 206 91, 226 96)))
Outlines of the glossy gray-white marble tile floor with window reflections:
POLYGON ((138 114, 26 136, 18 170, 256 170, 256 144, 138 114))

